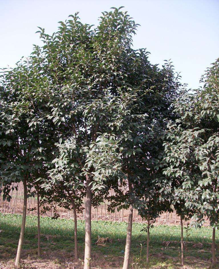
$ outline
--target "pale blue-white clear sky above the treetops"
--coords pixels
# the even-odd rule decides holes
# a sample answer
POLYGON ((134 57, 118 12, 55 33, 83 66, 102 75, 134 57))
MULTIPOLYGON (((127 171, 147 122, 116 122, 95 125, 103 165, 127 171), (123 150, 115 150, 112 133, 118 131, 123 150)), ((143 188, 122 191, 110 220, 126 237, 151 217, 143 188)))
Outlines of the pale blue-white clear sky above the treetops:
POLYGON ((198 88, 219 57, 219 0, 0 0, 0 68, 14 67, 33 44, 42 45, 37 26, 52 34, 77 11, 82 23, 97 25, 102 11, 121 6, 141 25, 134 48, 147 48, 153 64, 171 59, 182 83, 198 88))

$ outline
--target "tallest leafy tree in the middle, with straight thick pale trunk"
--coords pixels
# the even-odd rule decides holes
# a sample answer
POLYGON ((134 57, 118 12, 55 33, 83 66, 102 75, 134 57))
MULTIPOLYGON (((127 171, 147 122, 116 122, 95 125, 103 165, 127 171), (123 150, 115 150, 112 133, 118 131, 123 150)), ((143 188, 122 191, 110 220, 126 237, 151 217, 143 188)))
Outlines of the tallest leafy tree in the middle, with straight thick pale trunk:
POLYGON ((85 268, 90 268, 92 192, 108 191, 108 181, 120 174, 113 129, 131 98, 128 70, 123 68, 129 62, 134 65, 130 46, 136 24, 119 9, 103 13, 95 30, 80 23, 77 14, 71 17, 52 36, 40 28, 45 45, 35 46, 32 59, 48 83, 45 91, 52 107, 48 118, 63 140, 74 139, 75 159, 86 178, 85 268), (103 141, 97 143, 98 137, 103 141), (114 160, 108 157, 111 153, 114 160))

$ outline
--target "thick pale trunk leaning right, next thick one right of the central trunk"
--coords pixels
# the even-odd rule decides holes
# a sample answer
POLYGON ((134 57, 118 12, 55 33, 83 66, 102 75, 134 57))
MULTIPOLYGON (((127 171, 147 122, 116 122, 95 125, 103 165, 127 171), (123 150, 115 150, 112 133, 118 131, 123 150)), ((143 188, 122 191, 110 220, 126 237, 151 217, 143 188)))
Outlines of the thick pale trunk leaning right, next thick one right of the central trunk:
POLYGON ((125 256, 123 269, 129 268, 129 258, 130 258, 130 249, 131 249, 131 230, 132 230, 132 217, 133 217, 133 207, 129 206, 129 220, 128 220, 128 228, 127 228, 127 236, 126 236, 126 244, 125 244, 125 256))

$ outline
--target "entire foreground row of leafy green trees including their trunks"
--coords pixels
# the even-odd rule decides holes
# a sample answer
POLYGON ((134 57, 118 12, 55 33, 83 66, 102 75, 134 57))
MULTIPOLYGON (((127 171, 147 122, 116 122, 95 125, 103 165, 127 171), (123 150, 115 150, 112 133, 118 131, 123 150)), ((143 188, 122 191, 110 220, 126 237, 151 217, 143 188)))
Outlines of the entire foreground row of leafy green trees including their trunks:
MULTIPOLYGON (((149 228, 161 213, 212 226, 212 263, 218 209, 219 58, 196 90, 180 83, 172 62, 149 62, 134 49, 137 24, 127 12, 103 12, 97 27, 78 13, 52 35, 39 27, 34 45, 15 68, 3 69, 0 91, 0 177, 3 200, 23 185, 23 218, 15 265, 21 260, 27 199, 74 215, 85 207, 84 269, 90 269, 91 209, 129 211, 123 269, 129 267, 133 210, 149 228)), ((2 202, 3 203, 3 202, 2 202)), ((47 208, 44 206, 44 210, 47 208)))

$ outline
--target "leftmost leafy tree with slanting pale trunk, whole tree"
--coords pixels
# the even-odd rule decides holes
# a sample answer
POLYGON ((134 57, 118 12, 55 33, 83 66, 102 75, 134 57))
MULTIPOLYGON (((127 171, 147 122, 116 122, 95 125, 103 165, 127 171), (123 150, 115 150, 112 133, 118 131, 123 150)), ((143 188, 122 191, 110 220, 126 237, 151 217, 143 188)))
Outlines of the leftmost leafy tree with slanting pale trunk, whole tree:
MULTIPOLYGON (((23 182, 24 205, 21 234, 15 265, 21 259, 23 246, 27 195, 33 186, 33 175, 46 162, 45 149, 51 148, 50 121, 42 118, 45 99, 35 93, 42 83, 33 80, 34 70, 29 60, 1 75, 1 186, 4 198, 8 196, 11 183, 23 182)), ((8 196, 8 199, 11 197, 8 196)))

